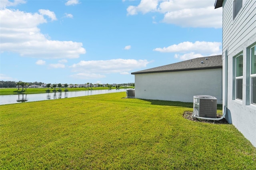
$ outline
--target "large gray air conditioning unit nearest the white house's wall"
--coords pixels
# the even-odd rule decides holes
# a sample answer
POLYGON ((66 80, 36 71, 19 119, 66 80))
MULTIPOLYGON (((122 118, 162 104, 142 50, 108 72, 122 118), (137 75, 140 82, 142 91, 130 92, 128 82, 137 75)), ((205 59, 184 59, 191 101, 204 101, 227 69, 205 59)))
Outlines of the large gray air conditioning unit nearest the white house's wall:
POLYGON ((193 114, 198 117, 217 117, 217 99, 213 96, 194 96, 193 114))

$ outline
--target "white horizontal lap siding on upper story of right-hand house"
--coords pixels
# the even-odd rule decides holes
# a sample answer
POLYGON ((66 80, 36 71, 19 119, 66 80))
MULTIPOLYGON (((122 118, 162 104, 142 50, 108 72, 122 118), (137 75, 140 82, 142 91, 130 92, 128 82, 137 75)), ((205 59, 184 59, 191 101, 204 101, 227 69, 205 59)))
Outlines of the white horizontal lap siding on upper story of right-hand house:
POLYGON ((235 51, 256 33, 256 1, 247 0, 233 20, 233 1, 224 1, 223 50, 235 51), (232 9, 232 10, 230 10, 232 9))

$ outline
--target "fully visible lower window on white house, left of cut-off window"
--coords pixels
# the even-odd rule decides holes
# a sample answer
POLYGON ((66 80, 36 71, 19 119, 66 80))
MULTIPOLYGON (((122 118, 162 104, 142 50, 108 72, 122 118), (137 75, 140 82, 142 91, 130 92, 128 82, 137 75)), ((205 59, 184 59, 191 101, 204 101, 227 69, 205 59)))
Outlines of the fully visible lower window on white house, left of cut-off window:
POLYGON ((236 99, 243 99, 243 54, 236 57, 236 99))

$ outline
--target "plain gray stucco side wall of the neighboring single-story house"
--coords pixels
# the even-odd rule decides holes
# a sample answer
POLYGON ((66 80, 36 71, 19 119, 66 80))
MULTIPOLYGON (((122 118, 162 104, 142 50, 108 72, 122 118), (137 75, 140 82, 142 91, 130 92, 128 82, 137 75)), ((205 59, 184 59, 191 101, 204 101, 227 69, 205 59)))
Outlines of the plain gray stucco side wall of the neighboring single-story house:
POLYGON ((211 95, 222 103, 222 69, 135 75, 135 98, 193 102, 194 95, 211 95))

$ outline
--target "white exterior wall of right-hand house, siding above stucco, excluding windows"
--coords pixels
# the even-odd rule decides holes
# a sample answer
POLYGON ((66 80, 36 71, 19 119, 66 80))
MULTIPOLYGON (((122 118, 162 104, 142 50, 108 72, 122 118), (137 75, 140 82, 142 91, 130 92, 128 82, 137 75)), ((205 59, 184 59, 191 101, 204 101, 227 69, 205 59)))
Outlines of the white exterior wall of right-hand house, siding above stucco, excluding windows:
POLYGON ((223 105, 227 97, 226 119, 256 147, 256 105, 251 104, 250 47, 256 44, 256 1, 243 0, 243 7, 233 20, 233 1, 223 3, 223 105), (227 53, 225 53, 227 51, 227 53), (235 99, 235 57, 243 53, 243 100, 235 99), (227 55, 227 56, 226 56, 227 55))

